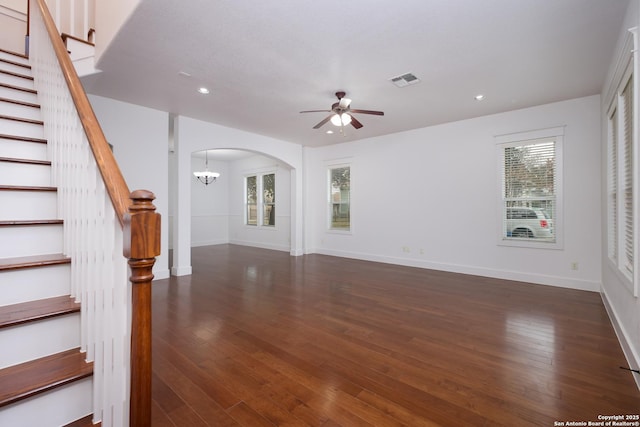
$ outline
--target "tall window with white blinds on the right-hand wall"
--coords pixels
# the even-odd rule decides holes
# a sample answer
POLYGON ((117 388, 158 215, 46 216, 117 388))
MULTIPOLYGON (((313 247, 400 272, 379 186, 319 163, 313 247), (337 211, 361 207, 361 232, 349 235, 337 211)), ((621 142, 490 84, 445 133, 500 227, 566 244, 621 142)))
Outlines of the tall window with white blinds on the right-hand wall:
POLYGON ((607 253, 629 284, 633 284, 636 244, 633 211, 633 97, 633 74, 629 67, 609 111, 607 141, 607 253))

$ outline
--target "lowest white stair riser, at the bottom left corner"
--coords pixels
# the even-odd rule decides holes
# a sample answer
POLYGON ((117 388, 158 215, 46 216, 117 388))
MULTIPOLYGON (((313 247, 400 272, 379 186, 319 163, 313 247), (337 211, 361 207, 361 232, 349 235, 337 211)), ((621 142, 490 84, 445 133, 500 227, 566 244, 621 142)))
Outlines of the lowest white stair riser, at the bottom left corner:
POLYGON ((59 427, 93 412, 92 378, 0 408, 0 426, 59 427))

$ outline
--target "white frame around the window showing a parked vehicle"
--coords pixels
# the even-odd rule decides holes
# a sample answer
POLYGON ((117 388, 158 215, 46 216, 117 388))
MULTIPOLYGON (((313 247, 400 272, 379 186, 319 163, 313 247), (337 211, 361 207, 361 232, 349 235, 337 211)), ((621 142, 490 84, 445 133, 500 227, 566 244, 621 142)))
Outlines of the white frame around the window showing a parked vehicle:
MULTIPOLYGON (((497 198, 497 244, 499 246, 524 247, 536 249, 558 250, 564 248, 564 197, 563 197, 563 145, 564 127, 539 129, 499 135, 494 138, 498 160, 498 198, 497 198), (538 240, 505 236, 505 221, 507 218, 507 198, 505 197, 505 148, 539 144, 554 141, 554 202, 553 215, 554 240, 538 240)), ((545 198, 550 199, 551 197, 545 198)), ((535 198, 539 199, 539 198, 535 198)), ((532 198, 532 200, 534 200, 532 198)))

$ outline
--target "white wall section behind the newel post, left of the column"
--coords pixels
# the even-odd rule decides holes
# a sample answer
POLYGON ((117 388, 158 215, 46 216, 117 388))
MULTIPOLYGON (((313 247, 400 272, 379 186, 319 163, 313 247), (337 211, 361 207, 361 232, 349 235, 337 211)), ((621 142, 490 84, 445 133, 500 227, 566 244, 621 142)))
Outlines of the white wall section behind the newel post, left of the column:
POLYGON ((156 196, 156 212, 162 215, 162 253, 156 259, 156 279, 169 277, 168 207, 169 165, 167 140, 169 115, 138 105, 90 95, 89 100, 129 189, 146 189, 156 196))

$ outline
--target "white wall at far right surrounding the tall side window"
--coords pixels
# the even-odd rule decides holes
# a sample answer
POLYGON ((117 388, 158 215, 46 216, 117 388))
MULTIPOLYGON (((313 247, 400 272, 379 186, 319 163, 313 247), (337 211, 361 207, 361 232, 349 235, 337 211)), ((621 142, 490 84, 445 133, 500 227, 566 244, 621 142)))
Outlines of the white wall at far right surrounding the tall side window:
MULTIPOLYGON (((616 49, 616 55, 613 58, 613 62, 611 63, 609 69, 609 75, 607 80, 604 83, 603 88, 603 105, 602 105, 602 144, 601 144, 601 165, 602 169, 606 170, 607 163, 607 135, 606 135, 606 126, 607 126, 607 117, 605 112, 608 110, 610 97, 609 92, 611 86, 617 85, 615 81, 615 75, 618 68, 618 58, 622 57, 625 53, 622 52, 623 45, 625 39, 629 36, 628 29, 632 27, 640 26, 640 5, 637 0, 633 0, 629 4, 629 9, 627 11, 625 22, 620 28, 620 37, 618 40, 618 45, 616 49)), ((636 46, 637 49, 637 46, 636 46)), ((637 53, 636 53, 637 55, 637 53)), ((623 67, 626 66, 626 62, 623 64, 623 67)), ((635 70, 634 80, 636 81, 636 92, 635 98, 636 100, 640 99, 640 93, 638 92, 638 76, 639 70, 635 70)), ((636 102, 636 105, 638 103, 636 102)), ((640 123, 640 111, 636 109, 636 123, 640 123)), ((636 145, 637 146, 637 145, 636 145)), ((636 165, 640 165, 640 153, 636 151, 636 165)), ((636 183, 639 182, 638 170, 640 168, 636 167, 636 183)), ((606 200, 606 173, 602 174, 602 200, 606 200)), ((635 188, 635 198, 636 201, 639 200, 640 191, 638 190, 638 186, 634 185, 635 188)), ((636 206, 639 206, 636 203, 636 206)), ((636 224, 638 224, 638 216, 639 213, 635 212, 636 216, 636 224)), ((605 203, 602 204, 602 230, 603 235, 606 236, 606 218, 607 218, 607 206, 605 203)), ((639 233, 635 232, 636 239, 638 239, 639 233)), ((615 267, 609 261, 607 256, 607 239, 602 239, 602 296, 607 308, 609 310, 609 314, 612 318, 614 327, 616 328, 616 333, 618 334, 618 338, 622 344, 622 348, 625 352, 627 360, 629 361, 630 366, 633 369, 640 369, 640 298, 634 297, 629 290, 629 288, 624 283, 624 279, 618 275, 615 267)), ((639 244, 636 241, 636 248, 638 248, 639 244)), ((636 249, 634 255, 634 270, 638 272, 640 269, 640 262, 638 262, 638 251, 636 249)), ((636 277, 638 274, 636 273, 636 277)), ((636 286, 640 286, 636 284, 636 286)), ((640 375, 634 376, 638 387, 640 388, 640 375)))

